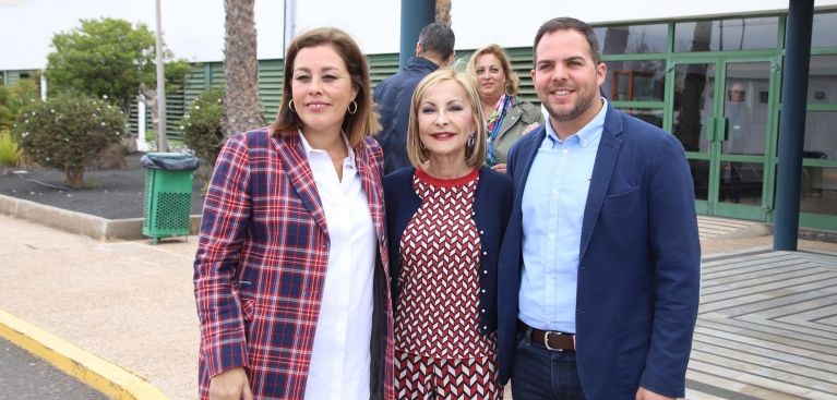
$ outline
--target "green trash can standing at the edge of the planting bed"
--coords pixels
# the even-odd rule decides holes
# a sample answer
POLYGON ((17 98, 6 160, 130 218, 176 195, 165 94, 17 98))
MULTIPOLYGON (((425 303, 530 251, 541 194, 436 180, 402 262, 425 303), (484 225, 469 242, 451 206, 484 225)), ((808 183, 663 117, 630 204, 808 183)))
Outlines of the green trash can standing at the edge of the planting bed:
POLYGON ((159 238, 188 237, 198 158, 186 153, 148 153, 141 163, 146 168, 143 235, 154 244, 159 238))

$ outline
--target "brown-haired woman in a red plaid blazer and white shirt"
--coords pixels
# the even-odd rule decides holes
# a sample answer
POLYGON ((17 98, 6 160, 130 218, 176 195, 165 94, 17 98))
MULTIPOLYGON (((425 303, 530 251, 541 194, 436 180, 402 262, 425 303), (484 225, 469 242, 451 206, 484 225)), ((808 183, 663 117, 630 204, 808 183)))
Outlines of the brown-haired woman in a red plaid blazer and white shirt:
POLYGON ((276 122, 231 137, 194 263, 201 399, 393 399, 380 129, 336 28, 285 57, 276 122))

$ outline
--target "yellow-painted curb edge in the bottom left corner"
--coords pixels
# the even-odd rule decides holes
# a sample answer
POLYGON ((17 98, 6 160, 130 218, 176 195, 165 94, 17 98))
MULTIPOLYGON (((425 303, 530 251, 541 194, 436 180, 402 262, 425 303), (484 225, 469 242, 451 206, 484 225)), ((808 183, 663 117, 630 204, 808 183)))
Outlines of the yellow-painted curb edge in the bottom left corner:
POLYGON ((0 310, 0 337, 111 399, 167 399, 147 380, 2 310, 0 310))

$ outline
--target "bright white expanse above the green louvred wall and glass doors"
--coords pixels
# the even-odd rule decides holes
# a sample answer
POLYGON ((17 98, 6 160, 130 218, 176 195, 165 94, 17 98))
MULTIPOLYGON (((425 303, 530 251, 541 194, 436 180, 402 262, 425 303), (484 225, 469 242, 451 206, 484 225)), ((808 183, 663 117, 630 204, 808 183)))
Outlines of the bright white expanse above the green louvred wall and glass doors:
MULTIPOLYGON (((286 0, 255 0, 260 59, 283 57, 286 0)), ((336 26, 370 54, 397 52, 403 0, 295 0, 296 32, 336 26)), ((416 1, 416 0, 409 0, 416 1)), ((429 0, 428 0, 429 1, 429 0)), ((530 46, 538 26, 553 16, 588 23, 741 15, 787 10, 788 0, 452 0, 456 49, 490 43, 530 46), (502 7, 502 15, 498 8, 502 7), (492 26, 487 21, 502 20, 492 26)), ((177 58, 191 62, 224 59, 224 0, 160 0, 164 39, 177 58)), ((837 9, 837 0, 815 0, 837 9)), ((58 32, 79 27, 80 19, 119 17, 155 29, 155 0, 0 0, 0 71, 44 69, 58 32)))

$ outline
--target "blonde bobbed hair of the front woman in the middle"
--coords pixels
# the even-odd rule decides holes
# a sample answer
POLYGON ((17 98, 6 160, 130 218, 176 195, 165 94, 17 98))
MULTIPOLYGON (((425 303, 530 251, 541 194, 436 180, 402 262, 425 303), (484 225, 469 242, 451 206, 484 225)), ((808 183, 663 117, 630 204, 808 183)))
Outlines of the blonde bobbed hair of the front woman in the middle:
POLYGON ((479 92, 470 75, 464 72, 457 72, 450 68, 439 69, 425 76, 419 82, 416 92, 410 101, 410 118, 407 124, 407 157, 414 167, 420 168, 429 159, 429 151, 422 149, 421 137, 419 135, 418 113, 427 92, 440 82, 455 81, 465 90, 465 100, 470 102, 471 120, 476 132, 474 133, 474 146, 465 147, 465 163, 468 167, 478 167, 486 161, 486 151, 488 144, 486 133, 486 122, 482 121, 482 101, 479 98, 479 92))

